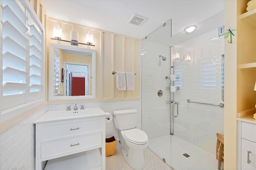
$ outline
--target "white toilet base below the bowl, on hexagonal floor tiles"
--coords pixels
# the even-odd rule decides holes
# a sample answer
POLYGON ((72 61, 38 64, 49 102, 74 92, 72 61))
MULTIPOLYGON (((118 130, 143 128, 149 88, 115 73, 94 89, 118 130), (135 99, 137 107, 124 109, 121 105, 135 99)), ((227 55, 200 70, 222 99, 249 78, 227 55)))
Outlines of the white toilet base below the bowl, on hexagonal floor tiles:
MULTIPOLYGON (((124 144, 126 145, 126 144, 124 144)), ((143 150, 130 149, 126 150, 127 146, 122 148, 122 154, 130 167, 135 170, 142 170, 144 168, 143 150)))

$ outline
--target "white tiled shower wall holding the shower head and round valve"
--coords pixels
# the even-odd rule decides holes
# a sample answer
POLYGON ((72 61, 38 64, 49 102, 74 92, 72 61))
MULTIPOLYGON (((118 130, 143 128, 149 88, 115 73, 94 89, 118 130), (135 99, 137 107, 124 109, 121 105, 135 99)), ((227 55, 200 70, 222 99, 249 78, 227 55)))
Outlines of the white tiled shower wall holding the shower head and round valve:
POLYGON ((142 41, 142 130, 149 139, 170 134, 170 47, 142 41), (166 57, 163 61, 159 55, 166 57), (163 96, 157 95, 158 90, 163 96))

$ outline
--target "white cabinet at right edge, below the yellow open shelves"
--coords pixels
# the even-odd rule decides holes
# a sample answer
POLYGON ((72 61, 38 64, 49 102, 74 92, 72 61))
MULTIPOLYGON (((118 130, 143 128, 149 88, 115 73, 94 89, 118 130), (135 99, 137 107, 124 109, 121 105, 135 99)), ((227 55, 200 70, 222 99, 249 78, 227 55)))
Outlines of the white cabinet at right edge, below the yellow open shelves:
POLYGON ((256 170, 256 121, 238 121, 238 169, 256 170))

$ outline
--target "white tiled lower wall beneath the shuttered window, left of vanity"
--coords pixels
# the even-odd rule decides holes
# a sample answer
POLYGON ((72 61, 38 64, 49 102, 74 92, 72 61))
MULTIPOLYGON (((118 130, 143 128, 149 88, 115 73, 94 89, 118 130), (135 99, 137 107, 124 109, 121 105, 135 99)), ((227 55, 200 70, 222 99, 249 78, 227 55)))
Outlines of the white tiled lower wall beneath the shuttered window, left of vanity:
POLYGON ((0 134, 0 169, 35 169, 35 126, 46 107, 0 134))

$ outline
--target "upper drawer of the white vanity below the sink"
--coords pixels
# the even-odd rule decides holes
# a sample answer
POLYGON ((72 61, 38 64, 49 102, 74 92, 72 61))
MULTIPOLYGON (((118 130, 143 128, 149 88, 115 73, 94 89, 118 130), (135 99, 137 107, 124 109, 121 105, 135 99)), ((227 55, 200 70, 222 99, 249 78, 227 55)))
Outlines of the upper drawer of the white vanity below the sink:
POLYGON ((92 132, 102 131, 101 119, 86 119, 45 123, 42 126, 42 141, 57 140, 65 137, 74 137, 92 132))

